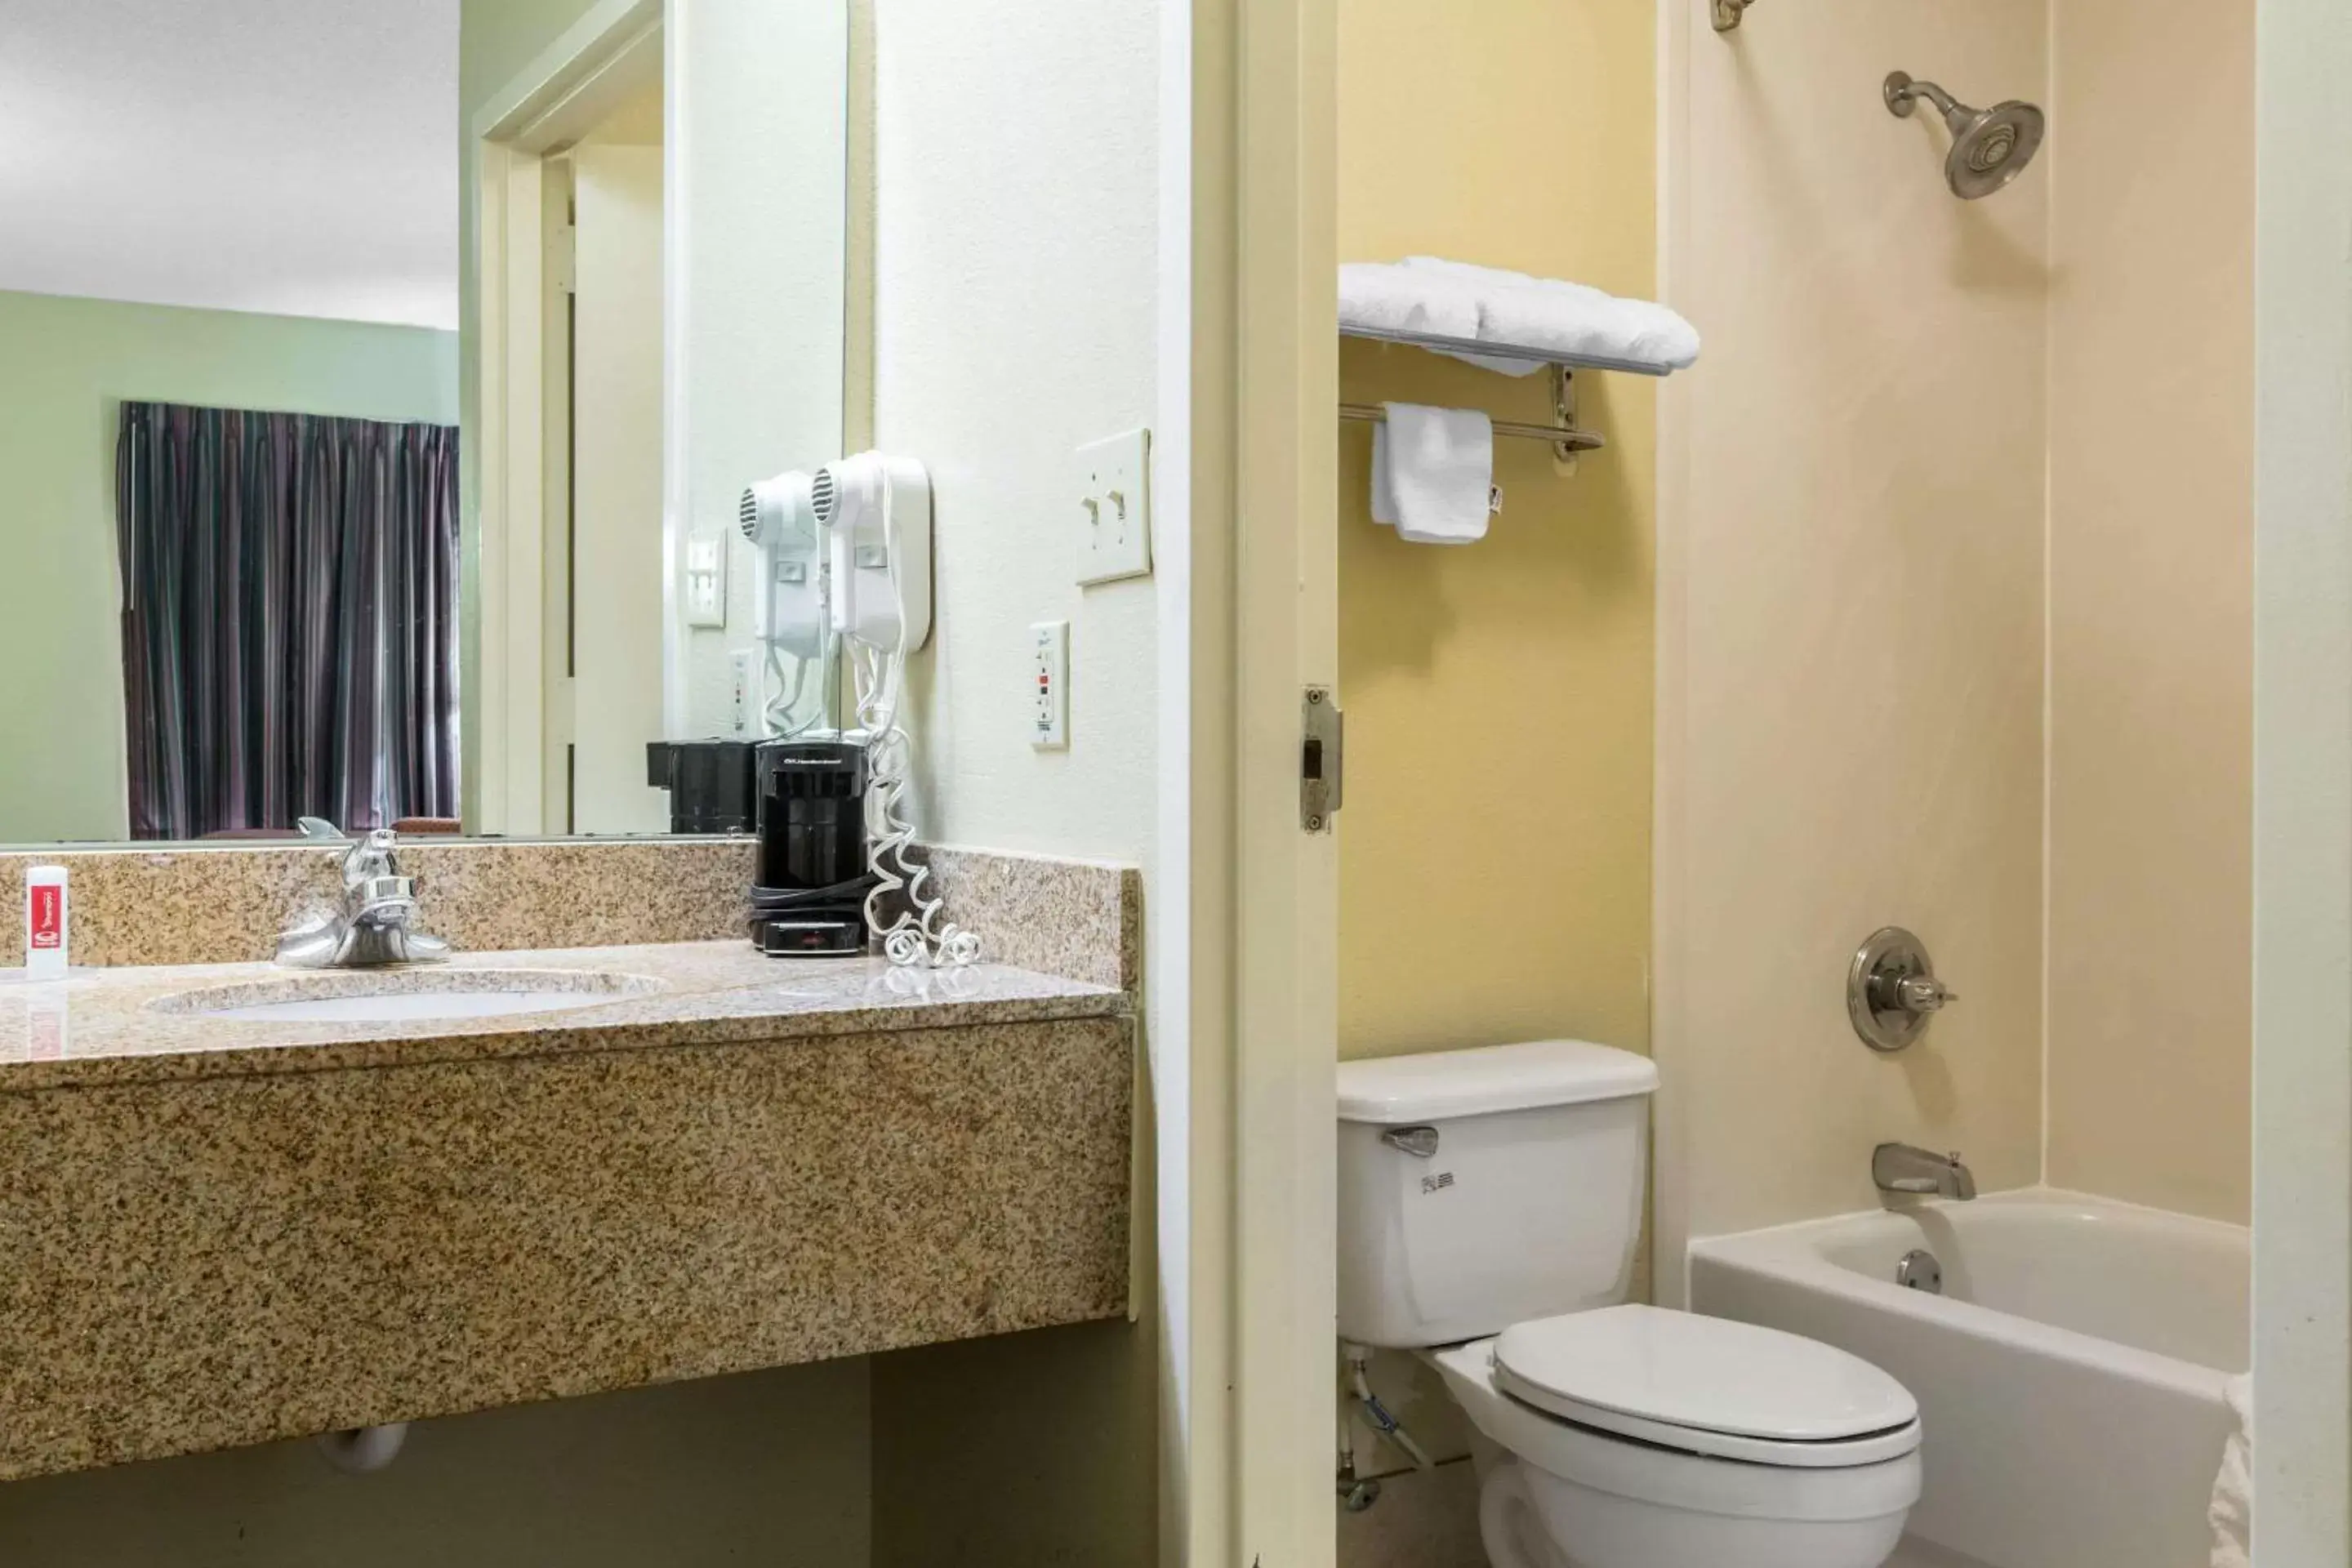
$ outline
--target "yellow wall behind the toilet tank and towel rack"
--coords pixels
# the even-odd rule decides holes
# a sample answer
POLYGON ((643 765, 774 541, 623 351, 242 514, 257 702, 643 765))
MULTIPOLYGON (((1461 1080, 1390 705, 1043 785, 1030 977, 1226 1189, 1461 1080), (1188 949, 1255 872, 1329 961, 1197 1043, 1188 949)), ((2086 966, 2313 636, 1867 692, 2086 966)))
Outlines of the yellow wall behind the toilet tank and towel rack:
MULTIPOLYGON (((1338 252, 1439 254, 1656 294, 1651 7, 1341 7, 1338 252)), ((1345 343, 1350 402, 1548 418, 1512 381, 1345 343)), ((1656 388, 1581 378, 1578 473, 1496 442, 1470 548, 1371 522, 1341 425, 1341 1056, 1573 1034, 1649 1048, 1656 388)))

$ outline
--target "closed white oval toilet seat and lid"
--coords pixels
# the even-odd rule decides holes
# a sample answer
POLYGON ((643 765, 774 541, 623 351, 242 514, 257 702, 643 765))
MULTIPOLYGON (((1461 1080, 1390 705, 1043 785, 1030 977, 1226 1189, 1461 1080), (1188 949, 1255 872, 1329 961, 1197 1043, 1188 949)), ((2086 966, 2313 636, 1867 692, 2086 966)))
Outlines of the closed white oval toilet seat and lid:
POLYGON ((1494 1385, 1585 1429, 1748 1465, 1844 1469, 1919 1448, 1917 1401, 1860 1356, 1691 1312, 1515 1324, 1494 1340, 1494 1385))

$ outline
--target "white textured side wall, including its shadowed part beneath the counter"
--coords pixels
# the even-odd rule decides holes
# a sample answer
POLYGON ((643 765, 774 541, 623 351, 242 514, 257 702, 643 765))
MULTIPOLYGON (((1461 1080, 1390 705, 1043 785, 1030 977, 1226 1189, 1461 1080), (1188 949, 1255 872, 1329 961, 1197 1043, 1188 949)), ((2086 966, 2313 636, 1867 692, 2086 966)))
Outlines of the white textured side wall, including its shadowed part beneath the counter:
MULTIPOLYGON (((1141 863, 1157 924, 1167 583, 1077 588, 1073 475, 1080 444, 1155 421, 1162 7, 868 2, 873 435, 929 463, 936 498, 938 618, 910 668, 915 823, 1141 863), (1070 623, 1065 752, 1028 743, 1037 621, 1070 623)), ((1160 1084, 1183 1074, 1181 1032, 1152 1048, 1176 1053, 1160 1084)), ((1164 1095, 1138 1107, 1145 1161, 1164 1095)), ((1138 1222, 1155 1204, 1143 1171, 1138 1222)), ((1181 1201, 1181 1143, 1174 1171, 1160 1180, 1181 1201)), ((1136 1291, 1141 1326, 875 1361, 875 1429, 894 1434, 875 1448, 875 1568, 1155 1559, 1169 1307, 1150 1269, 1136 1291)))

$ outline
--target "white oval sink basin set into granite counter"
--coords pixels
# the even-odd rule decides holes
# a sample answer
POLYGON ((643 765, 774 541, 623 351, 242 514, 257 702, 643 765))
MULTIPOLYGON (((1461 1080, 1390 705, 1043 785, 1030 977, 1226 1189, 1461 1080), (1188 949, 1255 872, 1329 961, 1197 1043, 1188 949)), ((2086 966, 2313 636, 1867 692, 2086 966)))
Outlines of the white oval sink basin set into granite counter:
POLYGON ((437 1023, 602 1006, 661 990, 659 980, 562 969, 318 971, 158 997, 160 1013, 242 1023, 437 1023))

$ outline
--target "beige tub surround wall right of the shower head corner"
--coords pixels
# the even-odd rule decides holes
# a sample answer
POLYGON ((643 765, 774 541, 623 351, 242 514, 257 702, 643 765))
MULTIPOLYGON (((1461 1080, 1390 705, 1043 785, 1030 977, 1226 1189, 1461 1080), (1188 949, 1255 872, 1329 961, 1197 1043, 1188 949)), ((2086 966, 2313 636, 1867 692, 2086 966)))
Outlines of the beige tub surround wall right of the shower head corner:
POLYGON ((2056 14, 2049 1180, 2246 1222, 2253 0, 2056 14))

